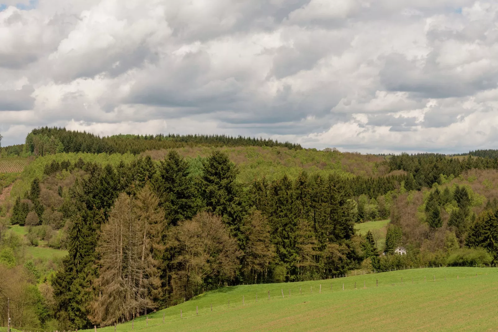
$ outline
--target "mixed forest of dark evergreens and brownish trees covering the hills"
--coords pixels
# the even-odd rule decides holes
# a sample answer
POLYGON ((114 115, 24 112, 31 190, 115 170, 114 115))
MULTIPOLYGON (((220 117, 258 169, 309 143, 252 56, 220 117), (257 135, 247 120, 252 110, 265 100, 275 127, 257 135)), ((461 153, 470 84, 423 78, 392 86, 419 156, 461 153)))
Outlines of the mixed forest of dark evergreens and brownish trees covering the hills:
MULTIPOLYGON (((271 148, 275 156, 307 150, 241 137, 99 138, 33 130, 18 155, 36 159, 14 182, 0 214, 2 276, 24 285, 16 290, 4 283, 0 289, 2 299, 24 292, 17 298, 25 308, 12 314, 16 322, 59 331, 109 326, 231 285, 407 265, 498 263, 494 158, 310 149, 362 159, 372 170, 343 164, 342 170, 324 165, 308 171, 315 168, 301 163, 298 173, 270 179, 256 171, 262 175, 248 180, 225 146, 271 148), (189 145, 212 149, 203 157, 185 157, 189 145), (155 159, 152 150, 164 153, 155 159), (131 151, 136 154, 126 154, 131 151), (106 159, 94 152, 123 155, 106 159), (355 229, 385 219, 390 222, 383 247, 375 232, 360 235, 355 229), (36 262, 22 260, 11 227, 28 229, 30 245, 45 241, 67 255, 40 271, 36 262), (393 255, 400 245, 407 255, 393 255)), ((5 321, 3 309, 0 315, 5 321)))

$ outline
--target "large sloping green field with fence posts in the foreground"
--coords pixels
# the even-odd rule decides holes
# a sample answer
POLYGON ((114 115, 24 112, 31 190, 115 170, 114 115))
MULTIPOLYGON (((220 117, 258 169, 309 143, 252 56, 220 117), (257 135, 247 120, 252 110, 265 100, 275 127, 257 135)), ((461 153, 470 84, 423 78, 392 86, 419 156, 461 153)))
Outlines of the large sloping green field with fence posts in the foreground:
MULTIPOLYGON (((497 303, 497 268, 411 269, 225 287, 149 314, 148 327, 140 317, 133 331, 494 331, 497 303)), ((131 322, 117 331, 131 331, 131 322)))

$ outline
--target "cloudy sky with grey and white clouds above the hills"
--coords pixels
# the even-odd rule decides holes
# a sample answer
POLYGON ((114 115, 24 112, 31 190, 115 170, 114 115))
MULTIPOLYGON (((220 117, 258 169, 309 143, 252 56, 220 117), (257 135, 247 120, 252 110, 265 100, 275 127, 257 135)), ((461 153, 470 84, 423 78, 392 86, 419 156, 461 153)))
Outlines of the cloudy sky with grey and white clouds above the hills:
POLYGON ((497 149, 498 1, 0 0, 0 133, 497 149))

